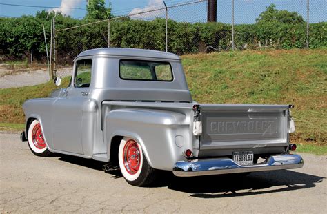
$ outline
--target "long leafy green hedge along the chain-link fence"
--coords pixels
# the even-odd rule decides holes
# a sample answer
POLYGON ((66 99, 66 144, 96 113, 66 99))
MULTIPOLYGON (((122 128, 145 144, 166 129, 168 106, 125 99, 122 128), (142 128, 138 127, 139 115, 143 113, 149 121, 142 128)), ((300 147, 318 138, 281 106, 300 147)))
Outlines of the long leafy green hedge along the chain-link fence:
MULTIPOLYGON (((50 20, 53 13, 38 12, 35 17, 0 18, 0 54, 9 59, 28 57, 32 51, 36 59, 46 60, 46 48, 41 23, 50 43, 50 20)), ((57 30, 88 23, 61 14, 56 15, 57 30)), ((178 55, 204 52, 208 46, 218 50, 231 48, 230 24, 179 23, 168 21, 168 51, 178 55)), ((310 48, 327 47, 327 22, 310 24, 310 48)), ((67 64, 83 50, 108 46, 108 21, 95 25, 57 31, 57 59, 67 64)), ((110 46, 166 50, 165 20, 140 21, 116 19, 110 21, 110 46)), ((235 26, 237 49, 273 47, 304 48, 306 23, 299 14, 276 10, 270 6, 260 14, 255 24, 235 26)), ((209 48, 210 50, 210 48, 209 48)))

